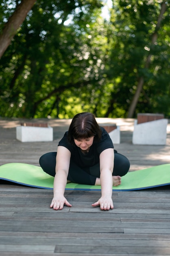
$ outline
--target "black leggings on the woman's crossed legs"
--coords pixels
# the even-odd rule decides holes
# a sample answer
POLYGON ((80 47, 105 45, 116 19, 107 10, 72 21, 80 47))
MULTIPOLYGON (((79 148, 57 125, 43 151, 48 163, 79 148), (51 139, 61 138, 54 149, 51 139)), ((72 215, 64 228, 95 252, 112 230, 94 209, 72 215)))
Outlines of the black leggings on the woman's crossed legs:
MULTIPOLYGON (((51 176, 55 176, 57 152, 50 152, 42 155, 39 159, 39 164, 44 172, 51 176)), ((130 167, 129 160, 119 153, 115 152, 113 175, 124 176, 130 167)), ((100 177, 100 164, 96 164, 89 168, 80 168, 70 160, 68 172, 68 180, 78 184, 94 185, 96 177, 100 177)))

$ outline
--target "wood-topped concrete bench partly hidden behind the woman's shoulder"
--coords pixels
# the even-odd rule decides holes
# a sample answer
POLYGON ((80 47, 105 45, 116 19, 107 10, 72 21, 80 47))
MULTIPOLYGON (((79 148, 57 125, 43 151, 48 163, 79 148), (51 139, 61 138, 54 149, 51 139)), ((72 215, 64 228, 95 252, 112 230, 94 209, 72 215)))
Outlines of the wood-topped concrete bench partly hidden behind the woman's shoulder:
POLYGON ((101 127, 105 128, 105 130, 109 133, 111 140, 114 144, 120 144, 120 126, 116 126, 116 124, 99 124, 101 127))

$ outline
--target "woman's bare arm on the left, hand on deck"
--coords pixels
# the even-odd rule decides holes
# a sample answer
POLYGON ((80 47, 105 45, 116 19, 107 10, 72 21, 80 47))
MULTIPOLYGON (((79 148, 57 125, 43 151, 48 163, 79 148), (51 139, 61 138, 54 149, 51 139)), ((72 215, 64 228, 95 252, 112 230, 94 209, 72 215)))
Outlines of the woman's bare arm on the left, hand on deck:
POLYGON ((58 146, 56 157, 56 174, 54 177, 54 197, 50 207, 54 210, 63 209, 64 204, 71 207, 72 205, 64 197, 65 186, 67 184, 68 171, 70 166, 70 151, 58 146))

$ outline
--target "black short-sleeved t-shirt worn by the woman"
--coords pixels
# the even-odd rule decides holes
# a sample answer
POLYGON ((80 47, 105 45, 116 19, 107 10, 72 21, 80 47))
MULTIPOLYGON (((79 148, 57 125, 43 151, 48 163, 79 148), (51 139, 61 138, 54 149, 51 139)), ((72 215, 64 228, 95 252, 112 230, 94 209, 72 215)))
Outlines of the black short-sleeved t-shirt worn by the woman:
POLYGON ((95 164, 99 163, 99 156, 103 150, 107 148, 114 148, 107 131, 102 127, 100 128, 102 130, 102 137, 100 141, 94 141, 86 155, 82 153, 81 149, 76 146, 76 144, 72 145, 68 142, 68 132, 65 132, 65 135, 59 141, 58 146, 68 148, 68 150, 71 152, 71 160, 79 167, 84 168, 94 166, 95 164))

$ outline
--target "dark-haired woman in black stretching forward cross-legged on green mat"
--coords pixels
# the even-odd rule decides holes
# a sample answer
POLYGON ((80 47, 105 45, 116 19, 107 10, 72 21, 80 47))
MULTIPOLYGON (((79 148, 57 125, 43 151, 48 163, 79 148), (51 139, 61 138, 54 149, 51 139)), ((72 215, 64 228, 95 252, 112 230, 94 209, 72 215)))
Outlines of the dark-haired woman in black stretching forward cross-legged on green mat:
POLYGON ((39 164, 54 176, 54 197, 50 204, 54 210, 63 209, 64 204, 72 206, 64 197, 67 182, 101 185, 101 197, 92 206, 113 209, 112 186, 121 184, 121 176, 130 167, 125 156, 114 152, 109 134, 88 112, 74 116, 57 152, 42 155, 39 164))

